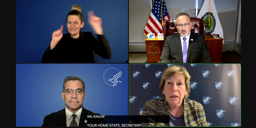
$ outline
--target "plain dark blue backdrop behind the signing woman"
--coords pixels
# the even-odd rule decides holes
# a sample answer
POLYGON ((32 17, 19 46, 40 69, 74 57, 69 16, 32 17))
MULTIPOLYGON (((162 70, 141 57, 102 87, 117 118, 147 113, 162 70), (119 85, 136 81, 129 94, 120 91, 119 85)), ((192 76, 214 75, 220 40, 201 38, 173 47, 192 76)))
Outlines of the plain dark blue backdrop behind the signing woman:
MULTIPOLYGON (((128 60, 128 1, 127 0, 17 0, 16 1, 16 62, 41 63, 50 45, 52 33, 64 26, 73 5, 82 6, 82 32, 93 32, 87 12, 102 18, 104 34, 112 49, 112 58, 94 54, 96 63, 124 63, 128 60)), ((94 33, 94 32, 93 32, 94 33)), ((94 34, 96 36, 96 34, 94 34)))

